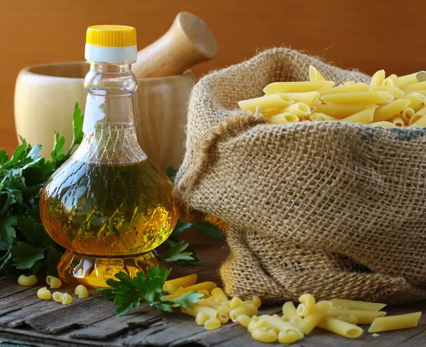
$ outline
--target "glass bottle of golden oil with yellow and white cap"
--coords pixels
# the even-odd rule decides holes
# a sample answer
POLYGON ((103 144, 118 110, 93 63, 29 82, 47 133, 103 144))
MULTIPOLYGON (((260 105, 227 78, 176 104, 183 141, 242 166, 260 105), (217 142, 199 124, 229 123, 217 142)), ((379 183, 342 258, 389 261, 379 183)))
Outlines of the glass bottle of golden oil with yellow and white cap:
POLYGON ((136 53, 134 28, 87 29, 84 139, 40 197, 43 225, 67 249, 58 265, 66 282, 107 287, 116 272, 158 264, 150 251, 178 219, 172 183, 136 139, 136 53))

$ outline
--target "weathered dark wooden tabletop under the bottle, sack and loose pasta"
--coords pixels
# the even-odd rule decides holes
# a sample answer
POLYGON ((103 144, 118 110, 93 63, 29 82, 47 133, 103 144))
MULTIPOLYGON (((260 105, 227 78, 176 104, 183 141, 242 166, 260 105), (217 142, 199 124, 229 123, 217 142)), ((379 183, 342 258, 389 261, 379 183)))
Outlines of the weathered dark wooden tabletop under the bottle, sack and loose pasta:
MULTIPOLYGON (((190 234, 190 243, 204 263, 197 267, 173 267, 175 276, 197 272, 200 280, 219 282, 217 268, 229 250, 226 243, 190 234)), ((42 280, 40 279, 40 284, 42 280)), ((42 301, 37 287, 17 285, 16 276, 0 277, 0 347, 3 346, 217 346, 260 347, 245 328, 227 324, 216 331, 205 331, 190 316, 178 312, 163 314, 143 305, 125 316, 116 317, 114 304, 97 295, 63 306, 42 301), (13 345, 13 343, 15 345, 13 345)), ((72 292, 72 287, 65 287, 72 292)), ((64 290, 64 288, 62 288, 64 290)), ((393 307, 389 314, 426 311, 426 302, 393 307)), ((264 312, 280 312, 280 306, 266 307, 264 312)), ((366 331, 366 329, 364 329, 366 331)), ((275 345, 276 346, 276 345, 275 345)), ((367 332, 358 339, 348 339, 315 329, 297 347, 337 346, 426 346, 426 316, 419 326, 403 331, 381 333, 373 337, 367 332)))

